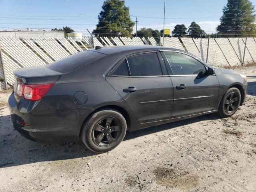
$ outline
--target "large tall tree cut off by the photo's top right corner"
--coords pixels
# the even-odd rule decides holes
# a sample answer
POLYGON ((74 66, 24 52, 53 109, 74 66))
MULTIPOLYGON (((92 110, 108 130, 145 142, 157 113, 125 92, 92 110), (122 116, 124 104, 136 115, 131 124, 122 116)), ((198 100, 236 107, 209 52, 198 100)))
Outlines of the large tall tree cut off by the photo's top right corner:
POLYGON ((216 28, 218 35, 240 37, 255 34, 254 12, 250 0, 228 0, 216 28))

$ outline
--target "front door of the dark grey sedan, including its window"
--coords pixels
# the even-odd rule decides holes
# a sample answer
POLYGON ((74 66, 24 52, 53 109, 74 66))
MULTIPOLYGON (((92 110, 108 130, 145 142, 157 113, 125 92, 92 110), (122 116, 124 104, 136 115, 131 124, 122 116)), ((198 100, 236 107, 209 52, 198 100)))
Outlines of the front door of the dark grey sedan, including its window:
POLYGON ((190 54, 162 55, 174 86, 173 118, 214 110, 219 93, 216 75, 206 75, 206 66, 190 54))

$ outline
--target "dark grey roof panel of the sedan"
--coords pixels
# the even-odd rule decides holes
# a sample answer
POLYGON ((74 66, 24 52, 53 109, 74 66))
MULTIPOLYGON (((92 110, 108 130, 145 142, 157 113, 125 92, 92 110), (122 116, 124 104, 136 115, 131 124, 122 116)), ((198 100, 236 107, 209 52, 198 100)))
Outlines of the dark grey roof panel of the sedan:
POLYGON ((125 46, 109 46, 103 47, 101 49, 90 49, 90 51, 100 52, 106 55, 121 53, 121 52, 144 52, 144 51, 156 51, 156 50, 176 50, 182 51, 179 49, 168 48, 168 47, 161 47, 161 46, 152 46, 152 45, 125 45, 125 46))

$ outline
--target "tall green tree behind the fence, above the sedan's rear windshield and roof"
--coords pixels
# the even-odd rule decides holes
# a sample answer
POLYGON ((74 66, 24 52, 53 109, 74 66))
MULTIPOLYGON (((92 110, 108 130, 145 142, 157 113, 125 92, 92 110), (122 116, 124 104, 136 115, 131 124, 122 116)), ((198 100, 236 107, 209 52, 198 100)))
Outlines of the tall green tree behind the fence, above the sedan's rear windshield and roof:
POLYGON ((97 28, 93 34, 100 36, 132 36, 134 22, 124 0, 105 0, 98 15, 97 28))

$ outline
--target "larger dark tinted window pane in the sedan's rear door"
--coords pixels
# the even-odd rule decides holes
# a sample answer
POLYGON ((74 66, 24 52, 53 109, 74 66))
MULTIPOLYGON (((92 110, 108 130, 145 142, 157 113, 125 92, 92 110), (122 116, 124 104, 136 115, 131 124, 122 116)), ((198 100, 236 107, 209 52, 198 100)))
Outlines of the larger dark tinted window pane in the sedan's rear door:
POLYGON ((130 56, 127 60, 131 76, 162 75, 162 69, 156 52, 130 56))

